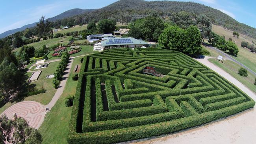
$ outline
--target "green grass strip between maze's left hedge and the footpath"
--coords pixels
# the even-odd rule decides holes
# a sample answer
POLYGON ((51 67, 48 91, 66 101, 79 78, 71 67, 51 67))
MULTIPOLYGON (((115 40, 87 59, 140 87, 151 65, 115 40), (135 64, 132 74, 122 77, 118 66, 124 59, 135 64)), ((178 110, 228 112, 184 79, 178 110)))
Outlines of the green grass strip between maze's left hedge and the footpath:
POLYGON ((80 63, 79 57, 74 59, 63 94, 56 102, 52 110, 46 114, 45 120, 42 126, 39 128, 39 132, 43 137, 43 144, 67 143, 67 134, 72 107, 65 107, 64 102, 65 98, 75 94, 77 81, 72 81, 72 75, 75 74, 73 72, 74 66, 78 64, 82 64, 80 63))

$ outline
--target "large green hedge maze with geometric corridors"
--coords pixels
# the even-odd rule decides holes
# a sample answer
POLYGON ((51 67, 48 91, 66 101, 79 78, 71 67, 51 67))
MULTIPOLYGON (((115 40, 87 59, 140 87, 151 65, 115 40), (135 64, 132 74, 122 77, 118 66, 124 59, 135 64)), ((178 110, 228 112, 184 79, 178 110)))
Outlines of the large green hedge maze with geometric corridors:
POLYGON ((73 103, 69 144, 173 133, 255 104, 206 66, 157 48, 120 48, 84 57, 73 103), (145 66, 165 76, 143 74, 145 66))

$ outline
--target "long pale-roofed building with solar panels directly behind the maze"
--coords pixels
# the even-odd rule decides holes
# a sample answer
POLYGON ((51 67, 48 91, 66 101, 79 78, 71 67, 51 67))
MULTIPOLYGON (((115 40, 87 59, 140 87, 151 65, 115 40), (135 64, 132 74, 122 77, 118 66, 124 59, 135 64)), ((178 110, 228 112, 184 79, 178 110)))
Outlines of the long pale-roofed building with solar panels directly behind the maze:
POLYGON ((137 40, 132 37, 112 38, 101 42, 104 50, 109 48, 140 48, 141 46, 148 47, 148 43, 142 40, 137 40))

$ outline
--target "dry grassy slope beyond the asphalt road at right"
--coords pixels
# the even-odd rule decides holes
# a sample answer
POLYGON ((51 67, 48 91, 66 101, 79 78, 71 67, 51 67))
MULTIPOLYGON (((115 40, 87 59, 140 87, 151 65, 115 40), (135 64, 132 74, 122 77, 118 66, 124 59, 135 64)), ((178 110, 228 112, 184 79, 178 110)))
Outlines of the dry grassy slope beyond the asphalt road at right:
POLYGON ((256 53, 250 52, 248 48, 241 47, 242 41, 247 41, 249 42, 249 44, 252 44, 252 41, 256 42, 256 39, 247 37, 246 35, 243 35, 241 33, 239 33, 239 38, 233 37, 233 31, 226 30, 221 26, 212 25, 212 30, 218 35, 221 35, 221 36, 224 35, 226 40, 228 40, 228 38, 232 38, 232 41, 234 41, 239 48, 239 53, 237 57, 233 55, 230 55, 230 56, 232 56, 234 59, 236 59, 243 65, 247 66, 248 68, 250 68, 252 71, 256 72, 256 63, 255 63, 256 53))

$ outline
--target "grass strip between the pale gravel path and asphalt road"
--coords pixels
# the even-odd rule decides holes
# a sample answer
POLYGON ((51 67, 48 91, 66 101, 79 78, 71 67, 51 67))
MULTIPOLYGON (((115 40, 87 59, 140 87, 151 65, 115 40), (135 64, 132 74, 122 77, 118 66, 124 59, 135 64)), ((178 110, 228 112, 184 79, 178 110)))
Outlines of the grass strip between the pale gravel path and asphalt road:
POLYGON ((236 78, 238 81, 243 83, 246 87, 248 87, 250 90, 256 93, 256 86, 253 84, 254 79, 256 78, 252 73, 248 72, 247 77, 240 76, 237 74, 238 69, 241 68, 240 65, 237 63, 234 63, 233 61, 226 60, 223 63, 220 61, 217 61, 215 59, 209 59, 209 61, 217 66, 219 66, 221 69, 229 73, 231 76, 236 78))

